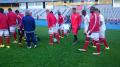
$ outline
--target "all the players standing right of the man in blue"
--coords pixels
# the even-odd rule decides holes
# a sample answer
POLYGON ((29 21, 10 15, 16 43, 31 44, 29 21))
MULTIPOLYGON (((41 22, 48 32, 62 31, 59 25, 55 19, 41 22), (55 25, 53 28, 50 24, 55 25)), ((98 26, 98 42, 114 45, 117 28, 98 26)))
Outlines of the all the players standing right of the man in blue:
MULTIPOLYGON (((50 10, 46 10, 47 14, 47 21, 48 21, 48 29, 49 29, 49 38, 50 38, 50 45, 53 45, 54 41, 53 38, 57 39, 57 43, 60 43, 60 38, 63 38, 64 28, 67 28, 69 31, 69 27, 64 25, 64 18, 62 14, 58 13, 58 19, 54 16, 53 12, 50 10), (63 27, 61 29, 61 27, 63 27), (60 33, 62 32, 62 35, 60 33)), ((78 49, 79 51, 87 51, 87 47, 92 42, 93 47, 97 49, 97 52, 93 53, 93 55, 99 55, 100 52, 100 44, 105 45, 105 49, 109 49, 109 46, 106 42, 105 38, 105 19, 103 15, 100 13, 100 10, 95 7, 90 8, 90 14, 87 14, 85 10, 82 10, 82 16, 77 12, 76 8, 72 8, 72 13, 70 15, 70 22, 71 22, 71 29, 72 34, 74 35, 73 45, 77 44, 78 38, 77 34, 81 26, 81 22, 84 22, 84 34, 86 36, 85 44, 82 49, 78 49), (82 19, 83 16, 83 19, 82 19)), ((68 32, 67 32, 68 33, 68 32)))

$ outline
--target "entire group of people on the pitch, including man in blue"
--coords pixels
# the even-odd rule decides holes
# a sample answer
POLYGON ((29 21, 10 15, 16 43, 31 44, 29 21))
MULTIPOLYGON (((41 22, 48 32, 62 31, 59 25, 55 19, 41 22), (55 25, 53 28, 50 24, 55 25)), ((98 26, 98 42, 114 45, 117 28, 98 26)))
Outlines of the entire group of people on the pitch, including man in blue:
MULTIPOLYGON (((58 18, 55 17, 52 11, 46 10, 47 22, 48 22, 48 31, 49 31, 49 44, 54 44, 54 39, 57 43, 60 43, 60 38, 64 38, 64 35, 69 33, 71 28, 74 35, 73 45, 78 42, 78 31, 80 29, 82 20, 84 22, 84 34, 86 36, 85 44, 82 49, 79 51, 87 51, 87 47, 90 42, 93 43, 93 47, 97 49, 97 52, 93 53, 94 55, 100 54, 100 44, 105 45, 105 49, 109 49, 109 46, 105 38, 105 20, 103 15, 100 13, 100 10, 91 7, 90 15, 87 14, 85 10, 82 10, 82 15, 77 12, 76 8, 72 8, 72 13, 67 16, 66 21, 60 12, 58 12, 58 18), (83 17, 82 17, 83 16, 83 17)), ((27 46, 30 46, 30 37, 33 40, 33 43, 36 46, 34 31, 35 31, 35 20, 31 16, 30 11, 26 11, 26 17, 23 14, 19 13, 18 10, 12 12, 12 9, 8 9, 8 13, 4 13, 4 9, 0 8, 0 47, 5 47, 3 43, 3 37, 5 37, 6 47, 10 48, 10 34, 14 37, 14 42, 17 43, 17 34, 16 34, 16 25, 18 27, 19 39, 18 42, 21 44, 21 40, 24 36, 24 28, 27 31, 26 41, 27 46), (17 20, 17 22, 16 22, 17 20), (10 33, 10 34, 9 34, 10 33)), ((31 47, 30 47, 31 48, 31 47)))

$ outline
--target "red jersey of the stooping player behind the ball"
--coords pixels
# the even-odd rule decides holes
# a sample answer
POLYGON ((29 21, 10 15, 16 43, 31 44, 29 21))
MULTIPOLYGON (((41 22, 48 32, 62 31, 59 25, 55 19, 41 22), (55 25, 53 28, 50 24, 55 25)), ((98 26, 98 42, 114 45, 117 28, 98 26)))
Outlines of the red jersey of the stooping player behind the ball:
POLYGON ((51 28, 54 25, 56 25, 57 19, 53 13, 47 14, 47 22, 48 22, 48 28, 51 28))

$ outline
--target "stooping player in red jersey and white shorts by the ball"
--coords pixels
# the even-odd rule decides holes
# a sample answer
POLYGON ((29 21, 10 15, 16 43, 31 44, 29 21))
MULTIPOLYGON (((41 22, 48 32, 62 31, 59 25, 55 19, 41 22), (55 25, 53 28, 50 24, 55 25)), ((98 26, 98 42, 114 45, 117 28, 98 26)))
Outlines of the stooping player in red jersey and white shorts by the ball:
POLYGON ((49 44, 53 45, 53 37, 57 39, 57 42, 60 43, 58 28, 57 28, 57 20, 54 16, 53 12, 50 12, 48 9, 46 10, 47 14, 47 22, 48 22, 48 29, 49 29, 49 44))

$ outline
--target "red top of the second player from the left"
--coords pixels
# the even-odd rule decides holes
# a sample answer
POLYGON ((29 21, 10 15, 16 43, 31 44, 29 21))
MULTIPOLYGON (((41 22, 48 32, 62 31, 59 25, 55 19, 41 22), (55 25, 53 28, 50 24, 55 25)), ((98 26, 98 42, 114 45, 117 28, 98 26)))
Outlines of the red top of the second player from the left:
POLYGON ((10 11, 8 14, 8 24, 9 26, 16 25, 17 15, 10 11))

